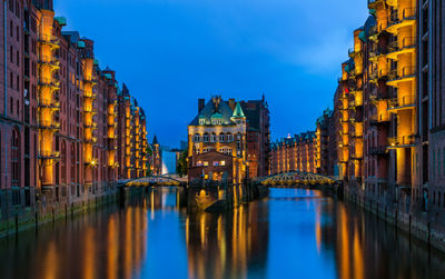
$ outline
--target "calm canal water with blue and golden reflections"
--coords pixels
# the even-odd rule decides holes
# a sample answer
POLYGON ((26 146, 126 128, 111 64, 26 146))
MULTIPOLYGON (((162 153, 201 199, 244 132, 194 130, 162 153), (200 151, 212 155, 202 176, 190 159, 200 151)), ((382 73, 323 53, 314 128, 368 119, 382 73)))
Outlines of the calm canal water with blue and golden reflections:
POLYGON ((445 278, 444 257, 355 206, 270 189, 224 215, 176 188, 0 240, 0 278, 445 278))

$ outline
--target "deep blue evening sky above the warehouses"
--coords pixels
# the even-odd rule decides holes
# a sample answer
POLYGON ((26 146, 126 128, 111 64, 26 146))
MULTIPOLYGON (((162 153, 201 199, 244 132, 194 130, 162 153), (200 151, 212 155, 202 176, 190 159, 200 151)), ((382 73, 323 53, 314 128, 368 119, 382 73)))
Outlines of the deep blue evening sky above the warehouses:
POLYGON ((65 30, 96 42, 148 113, 150 139, 178 146, 197 99, 265 93, 273 138, 315 129, 368 16, 366 0, 55 0, 65 30))

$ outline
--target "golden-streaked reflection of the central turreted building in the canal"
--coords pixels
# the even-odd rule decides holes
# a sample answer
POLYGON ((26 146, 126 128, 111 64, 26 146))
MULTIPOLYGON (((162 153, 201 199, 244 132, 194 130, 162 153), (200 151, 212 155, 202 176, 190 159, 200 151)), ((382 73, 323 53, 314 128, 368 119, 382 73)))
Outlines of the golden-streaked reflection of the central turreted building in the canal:
POLYGON ((266 277, 269 226, 267 207, 236 207, 227 215, 187 216, 189 278, 266 277))

